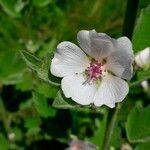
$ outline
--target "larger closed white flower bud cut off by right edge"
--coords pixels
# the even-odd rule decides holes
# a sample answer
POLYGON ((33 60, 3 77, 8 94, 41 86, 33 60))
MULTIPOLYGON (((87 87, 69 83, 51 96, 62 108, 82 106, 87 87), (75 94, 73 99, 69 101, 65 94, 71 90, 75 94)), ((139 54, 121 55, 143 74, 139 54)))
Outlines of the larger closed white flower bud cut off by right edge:
POLYGON ((141 68, 150 67, 150 47, 145 48, 136 55, 135 63, 141 68))

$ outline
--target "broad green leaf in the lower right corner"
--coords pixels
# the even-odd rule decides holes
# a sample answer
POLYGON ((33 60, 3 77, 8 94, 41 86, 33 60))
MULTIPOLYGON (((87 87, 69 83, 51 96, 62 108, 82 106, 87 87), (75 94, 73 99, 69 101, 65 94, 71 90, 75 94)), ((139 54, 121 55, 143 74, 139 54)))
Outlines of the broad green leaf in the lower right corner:
POLYGON ((134 108, 128 116, 126 131, 130 142, 150 141, 150 106, 134 108))

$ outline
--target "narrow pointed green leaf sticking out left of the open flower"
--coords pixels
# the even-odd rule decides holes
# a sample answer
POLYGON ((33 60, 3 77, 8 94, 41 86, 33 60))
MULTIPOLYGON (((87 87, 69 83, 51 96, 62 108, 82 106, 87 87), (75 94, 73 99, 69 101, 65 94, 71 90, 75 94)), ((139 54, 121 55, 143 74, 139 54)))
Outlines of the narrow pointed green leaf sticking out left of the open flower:
POLYGON ((56 86, 60 85, 59 83, 53 82, 49 79, 50 56, 41 60, 27 51, 22 51, 21 55, 27 66, 35 71, 41 80, 56 86))

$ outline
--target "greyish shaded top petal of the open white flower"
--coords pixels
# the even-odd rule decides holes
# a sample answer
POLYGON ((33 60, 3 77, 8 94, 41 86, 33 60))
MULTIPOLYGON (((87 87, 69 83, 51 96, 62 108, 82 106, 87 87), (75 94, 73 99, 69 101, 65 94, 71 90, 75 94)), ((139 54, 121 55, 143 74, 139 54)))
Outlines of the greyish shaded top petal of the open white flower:
POLYGON ((80 47, 91 57, 101 60, 114 51, 115 40, 95 30, 81 30, 77 39, 80 47))

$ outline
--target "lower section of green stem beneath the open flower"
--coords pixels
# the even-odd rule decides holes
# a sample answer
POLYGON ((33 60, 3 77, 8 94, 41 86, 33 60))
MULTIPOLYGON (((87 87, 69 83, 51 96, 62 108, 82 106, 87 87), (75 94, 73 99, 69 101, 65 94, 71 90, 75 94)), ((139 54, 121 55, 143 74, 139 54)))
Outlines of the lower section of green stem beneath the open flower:
POLYGON ((105 131, 105 137, 104 137, 104 143, 103 143, 103 150, 109 149, 110 140, 113 134, 115 123, 117 120, 117 115, 118 115, 120 108, 121 108, 121 103, 117 104, 117 107, 115 109, 112 109, 109 111, 107 128, 106 128, 107 130, 105 131))

